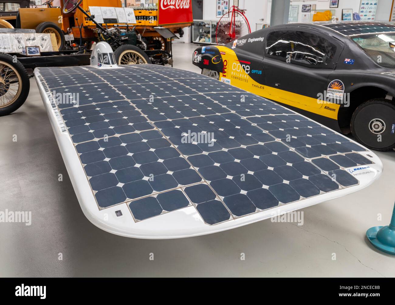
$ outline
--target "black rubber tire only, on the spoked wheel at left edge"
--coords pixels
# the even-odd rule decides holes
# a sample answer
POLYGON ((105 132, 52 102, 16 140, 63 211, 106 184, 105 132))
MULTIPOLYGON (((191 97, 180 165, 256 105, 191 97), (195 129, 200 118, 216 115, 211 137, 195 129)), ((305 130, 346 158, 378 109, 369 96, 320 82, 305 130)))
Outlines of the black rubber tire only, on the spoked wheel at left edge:
POLYGON ((26 72, 26 69, 19 62, 19 60, 13 62, 13 57, 11 55, 0 53, 0 61, 4 61, 12 65, 21 76, 21 82, 22 82, 20 84, 22 86, 21 94, 15 100, 15 102, 13 102, 11 105, 7 107, 0 108, 0 117, 1 117, 3 115, 9 115, 10 113, 14 112, 15 110, 17 110, 19 107, 23 105, 23 103, 26 101, 27 96, 29 95, 30 80, 29 80, 29 75, 26 72))

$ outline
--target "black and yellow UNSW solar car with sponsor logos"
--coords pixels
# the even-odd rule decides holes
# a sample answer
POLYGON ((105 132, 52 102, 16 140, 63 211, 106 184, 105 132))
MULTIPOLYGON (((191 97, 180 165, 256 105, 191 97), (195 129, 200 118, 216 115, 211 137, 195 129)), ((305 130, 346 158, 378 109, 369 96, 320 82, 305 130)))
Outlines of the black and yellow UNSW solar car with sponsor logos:
POLYGON ((395 147, 394 24, 283 24, 198 47, 193 62, 371 149, 395 147))

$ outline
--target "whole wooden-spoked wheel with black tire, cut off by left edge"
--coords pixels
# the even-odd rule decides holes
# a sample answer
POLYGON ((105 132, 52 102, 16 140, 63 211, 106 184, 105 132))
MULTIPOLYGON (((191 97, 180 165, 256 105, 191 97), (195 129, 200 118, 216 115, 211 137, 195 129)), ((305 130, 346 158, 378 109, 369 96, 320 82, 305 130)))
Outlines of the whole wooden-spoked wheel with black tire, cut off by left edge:
POLYGON ((25 102, 30 89, 24 66, 11 55, 0 53, 0 116, 17 110, 25 102))

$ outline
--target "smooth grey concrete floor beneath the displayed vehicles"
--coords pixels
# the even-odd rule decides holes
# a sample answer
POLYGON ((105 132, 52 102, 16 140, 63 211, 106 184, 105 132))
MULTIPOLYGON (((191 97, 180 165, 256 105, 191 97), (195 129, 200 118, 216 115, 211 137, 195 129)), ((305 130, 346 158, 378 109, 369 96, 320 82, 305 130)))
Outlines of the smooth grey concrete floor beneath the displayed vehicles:
MULTIPOLYGON (((174 66, 200 72, 191 63, 195 47, 174 44, 174 66)), ((32 212, 30 226, 0 223, 0 276, 395 275, 395 256, 378 252, 365 239, 368 228, 389 223, 395 199, 395 152, 378 152, 384 173, 373 185, 304 209, 303 226, 264 220, 184 239, 120 237, 96 228, 83 215, 34 79, 30 84, 25 104, 12 115, 0 117, 0 211, 32 212), (378 213, 383 215, 381 221, 378 213), (154 260, 149 259, 150 253, 154 260), (241 253, 245 260, 240 260, 241 253)))

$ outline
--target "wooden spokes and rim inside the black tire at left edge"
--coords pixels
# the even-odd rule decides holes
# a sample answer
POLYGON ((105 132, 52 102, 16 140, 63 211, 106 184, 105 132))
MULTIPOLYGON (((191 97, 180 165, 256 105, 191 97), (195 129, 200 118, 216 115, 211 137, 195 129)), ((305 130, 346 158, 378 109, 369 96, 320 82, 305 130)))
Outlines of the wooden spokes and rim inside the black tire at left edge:
POLYGON ((8 107, 19 98, 21 83, 17 70, 11 64, 0 61, 0 108, 8 107))

